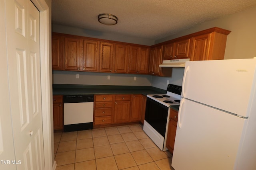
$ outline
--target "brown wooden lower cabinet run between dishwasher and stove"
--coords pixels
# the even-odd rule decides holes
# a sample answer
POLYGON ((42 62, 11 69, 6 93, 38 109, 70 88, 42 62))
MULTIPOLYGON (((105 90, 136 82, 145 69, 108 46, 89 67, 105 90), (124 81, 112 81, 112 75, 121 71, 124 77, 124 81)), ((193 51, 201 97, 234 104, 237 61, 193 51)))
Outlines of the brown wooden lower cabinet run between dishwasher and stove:
POLYGON ((145 109, 146 96, 142 94, 95 95, 94 127, 143 123, 145 109))

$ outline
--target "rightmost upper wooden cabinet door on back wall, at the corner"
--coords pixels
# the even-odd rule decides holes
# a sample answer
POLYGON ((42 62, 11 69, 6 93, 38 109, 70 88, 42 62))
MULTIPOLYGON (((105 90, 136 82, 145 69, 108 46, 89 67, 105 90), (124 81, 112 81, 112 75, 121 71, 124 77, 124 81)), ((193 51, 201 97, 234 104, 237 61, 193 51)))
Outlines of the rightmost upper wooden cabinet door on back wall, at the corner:
POLYGON ((140 48, 137 71, 140 74, 148 74, 148 48, 140 48))

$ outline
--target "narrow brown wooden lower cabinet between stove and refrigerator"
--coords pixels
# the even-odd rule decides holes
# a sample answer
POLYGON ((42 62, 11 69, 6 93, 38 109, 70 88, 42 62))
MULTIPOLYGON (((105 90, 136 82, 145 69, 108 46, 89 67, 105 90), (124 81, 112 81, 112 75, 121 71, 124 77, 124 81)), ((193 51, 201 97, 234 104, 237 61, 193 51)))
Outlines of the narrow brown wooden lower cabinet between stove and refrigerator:
POLYGON ((171 109, 170 119, 168 123, 167 140, 166 140, 166 148, 169 149, 171 153, 173 153, 173 149, 174 149, 177 121, 178 121, 178 111, 171 109))

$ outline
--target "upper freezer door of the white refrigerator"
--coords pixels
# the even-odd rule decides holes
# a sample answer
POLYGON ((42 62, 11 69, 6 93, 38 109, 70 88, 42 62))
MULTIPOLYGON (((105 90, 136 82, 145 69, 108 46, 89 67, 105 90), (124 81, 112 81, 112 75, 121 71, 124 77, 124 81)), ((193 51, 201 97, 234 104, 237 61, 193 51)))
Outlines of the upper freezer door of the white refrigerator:
POLYGON ((255 67, 256 59, 188 61, 182 97, 248 117, 256 102, 255 67))

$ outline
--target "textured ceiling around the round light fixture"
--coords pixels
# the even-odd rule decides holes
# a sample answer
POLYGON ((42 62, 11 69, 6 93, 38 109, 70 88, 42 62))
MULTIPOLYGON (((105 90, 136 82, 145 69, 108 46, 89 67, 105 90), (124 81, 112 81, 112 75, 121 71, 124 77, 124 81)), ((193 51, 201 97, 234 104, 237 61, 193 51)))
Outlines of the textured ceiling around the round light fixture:
POLYGON ((52 0, 52 23, 148 39, 161 39, 256 5, 256 0, 52 0), (98 15, 113 14, 116 25, 98 15))

